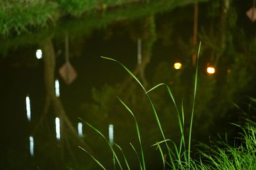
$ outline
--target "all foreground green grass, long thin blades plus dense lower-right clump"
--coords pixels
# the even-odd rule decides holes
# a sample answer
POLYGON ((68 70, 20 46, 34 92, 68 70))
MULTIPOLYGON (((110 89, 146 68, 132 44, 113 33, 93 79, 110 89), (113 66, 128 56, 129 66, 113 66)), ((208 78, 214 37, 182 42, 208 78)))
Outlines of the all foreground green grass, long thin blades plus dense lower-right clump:
MULTIPOLYGON (((198 48, 198 57, 200 54, 200 46, 201 46, 201 43, 198 48)), ((198 62, 196 64, 196 72, 195 72, 195 84, 194 84, 195 88, 193 93, 193 106, 191 110, 191 117, 190 117, 190 124, 189 124, 189 132, 188 132, 189 135, 188 135, 188 139, 186 139, 184 135, 185 134, 184 132, 184 122, 185 122, 184 115, 185 114, 184 114, 183 100, 182 100, 181 108, 179 111, 179 108, 175 102, 175 98, 173 97, 172 90, 168 85, 164 83, 160 83, 159 85, 156 85, 152 89, 146 90, 145 87, 140 82, 140 80, 138 80, 138 78, 136 78, 136 76, 134 76, 134 74, 127 67, 125 67, 124 64, 122 64, 121 62, 118 62, 115 59, 111 59, 108 57, 102 57, 102 58, 107 60, 112 60, 120 64, 120 66, 122 66, 125 69, 125 71, 127 71, 127 73, 129 73, 132 76, 132 78, 136 80, 136 82, 140 85, 141 89, 144 90, 145 95, 147 96, 148 101, 150 103, 150 106, 152 107, 152 111, 154 113, 154 117, 156 118, 156 122, 161 132, 161 135, 163 137, 162 141, 158 141, 154 145, 152 145, 152 146, 156 146, 157 149, 159 150, 161 160, 163 162, 163 169, 166 169, 166 166, 168 166, 171 169, 256 169, 256 164, 255 164, 256 162, 256 155, 255 155, 256 123, 252 122, 251 120, 247 120, 248 124, 246 124, 246 127, 241 127, 239 125, 234 124, 236 126, 239 126, 243 130, 243 133, 241 134, 241 138, 239 138, 242 143, 241 145, 231 146, 227 142, 222 142, 222 141, 221 141, 221 144, 222 144, 221 146, 220 145, 207 146, 202 144, 202 146, 204 146, 204 148, 206 148, 207 151, 209 151, 210 153, 199 151, 200 156, 198 159, 191 158, 191 138, 192 138, 192 128, 193 128, 193 117, 194 117, 194 110, 195 110, 196 87, 197 87, 197 79, 198 79, 198 62), (174 143, 174 141, 172 141, 171 139, 167 139, 166 136, 164 135, 163 128, 159 120, 156 108, 154 106, 152 99, 149 96, 149 92, 157 89, 157 87, 160 87, 161 85, 164 85, 166 87, 167 92, 170 96, 170 99, 172 103, 175 105, 175 110, 177 113, 179 128, 180 128, 179 145, 174 143), (173 145, 173 149, 170 144, 173 145), (167 159, 165 157, 163 147, 166 147, 166 150, 168 152, 167 159), (201 157, 204 157, 204 162, 202 161, 201 157)), ((144 155, 143 147, 141 145, 141 134, 140 134, 140 128, 139 128, 138 122, 131 108, 129 108, 129 106, 127 106, 127 104, 125 104, 122 101, 122 99, 120 99, 119 97, 118 97, 118 100, 134 118, 134 124, 136 126, 136 134, 138 136, 138 140, 140 143, 140 152, 138 152, 131 143, 130 145, 134 150, 134 152, 136 153, 136 156, 138 157, 140 169, 145 170, 147 168, 147 163, 145 162, 145 157, 147 155, 144 155)), ((256 102, 255 99, 254 101, 256 102)), ((88 124, 87 122, 85 123, 90 127, 92 127, 92 125, 88 124)), ((113 146, 110 145, 106 137, 102 133, 100 133, 95 127, 92 127, 92 129, 97 133, 99 133, 100 136, 102 136, 106 140, 109 147, 111 148, 111 152, 113 153, 114 159, 116 160, 116 162, 118 162, 118 166, 120 167, 120 169, 123 169, 120 159, 118 159, 118 156, 116 155, 116 152, 113 146)), ((130 169, 129 162, 126 159, 121 146, 117 145, 116 143, 114 143, 114 146, 116 146, 116 148, 118 148, 122 152, 122 155, 125 161, 125 166, 127 167, 127 169, 130 169)), ((91 153, 89 154, 91 155, 91 153)), ((106 169, 104 166, 102 166, 102 164, 100 164, 99 160, 93 157, 93 155, 91 155, 91 157, 93 158, 93 160, 95 160, 95 162, 97 162, 97 164, 99 164, 100 167, 102 167, 103 169, 106 169)), ((115 163, 114 163, 114 167, 115 167, 115 163)))

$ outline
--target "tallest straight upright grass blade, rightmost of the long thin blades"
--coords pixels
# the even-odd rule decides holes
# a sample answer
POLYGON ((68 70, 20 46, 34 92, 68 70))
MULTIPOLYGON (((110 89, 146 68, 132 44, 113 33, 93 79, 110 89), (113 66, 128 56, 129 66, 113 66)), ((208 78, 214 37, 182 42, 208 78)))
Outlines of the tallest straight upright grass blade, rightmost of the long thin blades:
POLYGON ((191 134, 192 134, 192 125, 193 125, 194 111, 195 111, 195 99, 196 99, 196 88, 197 88, 198 58, 199 58, 199 54, 200 54, 200 48, 201 48, 201 42, 199 44, 197 60, 196 60, 196 74, 195 74, 194 97, 193 97, 193 106, 192 106, 191 119, 190 119, 190 125, 189 125, 189 139, 188 139, 188 162, 189 162, 189 166, 190 166, 190 152, 191 152, 191 134))

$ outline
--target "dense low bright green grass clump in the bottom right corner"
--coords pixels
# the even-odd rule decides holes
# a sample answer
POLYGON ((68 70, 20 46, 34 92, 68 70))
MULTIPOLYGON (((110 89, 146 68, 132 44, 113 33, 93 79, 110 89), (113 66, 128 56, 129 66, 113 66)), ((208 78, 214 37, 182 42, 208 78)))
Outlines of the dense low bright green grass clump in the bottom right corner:
POLYGON ((246 120, 246 125, 238 126, 242 132, 234 145, 219 141, 218 145, 202 144, 210 153, 200 152, 207 159, 207 169, 256 169, 256 123, 246 120))

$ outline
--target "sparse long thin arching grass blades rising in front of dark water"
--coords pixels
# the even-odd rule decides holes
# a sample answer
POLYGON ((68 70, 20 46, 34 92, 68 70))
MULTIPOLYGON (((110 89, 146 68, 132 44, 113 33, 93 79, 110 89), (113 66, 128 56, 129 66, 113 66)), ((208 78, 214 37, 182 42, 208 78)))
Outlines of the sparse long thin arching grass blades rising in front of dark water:
MULTIPOLYGON (((201 43, 199 45, 199 49, 198 49, 198 56, 199 56, 199 52, 200 52, 200 46, 201 46, 201 43)), ((191 124, 190 124, 190 130, 189 130, 189 141, 188 141, 188 150, 186 150, 186 141, 185 141, 185 138, 184 138, 184 110, 183 110, 183 102, 182 102, 182 108, 181 108, 181 112, 182 112, 182 119, 180 118, 180 113, 179 113, 179 109, 177 107, 177 104, 175 102, 175 99, 173 97, 173 94, 172 94, 172 90, 170 89, 170 87, 164 83, 160 83, 159 85, 156 85, 155 87, 153 87, 152 89, 150 90, 146 90, 145 87, 142 85, 142 83, 140 82, 140 80, 138 80, 138 78, 136 78, 136 76, 127 68, 124 66, 124 64, 122 64, 121 62, 118 62, 117 60, 115 59, 111 59, 111 58, 108 58, 108 57, 102 57, 103 59, 108 59, 108 60, 112 60, 112 61, 115 61, 117 62, 118 64, 120 64, 120 66, 122 66, 125 71, 127 71, 127 73, 129 73, 132 78, 134 78, 134 80, 136 80, 136 82, 140 85, 141 89, 144 90, 145 92, 145 95, 147 96, 148 98, 148 101, 150 103, 150 106, 153 110, 153 113, 154 113, 154 116, 156 118, 156 122, 157 122, 157 125, 159 127, 159 130, 161 132, 161 135, 163 137, 163 141, 160 141, 160 142, 157 142, 156 145, 157 145, 157 148, 159 148, 159 152, 161 153, 161 158, 163 160, 163 166, 165 168, 165 164, 168 164, 168 166, 172 167, 172 169, 187 169, 190 167, 190 164, 191 164, 191 161, 190 161, 190 145, 191 145, 191 129, 192 129, 192 124, 193 124, 193 121, 191 120, 191 124), (168 94, 173 102, 173 104, 175 105, 175 108, 176 108, 176 111, 177 111, 177 115, 178 115, 178 121, 179 121, 179 127, 180 127, 180 134, 181 134, 181 138, 180 138, 180 145, 179 147, 177 147, 177 145, 171 141, 170 139, 167 139, 166 136, 164 135, 164 131, 163 131, 163 127, 161 125, 161 122, 159 120, 159 117, 158 117, 158 114, 157 114, 157 111, 156 111, 156 108, 154 106, 154 103, 152 102, 152 99, 151 97, 149 96, 149 92, 152 91, 152 90, 155 90, 157 89, 157 87, 161 86, 161 85, 164 85, 166 86, 167 88, 167 91, 168 91, 168 94), (174 145, 174 152, 172 151, 170 145, 168 144, 168 142, 171 141, 172 144, 174 145), (167 152, 168 152, 168 159, 166 160, 164 158, 164 153, 163 153, 163 150, 161 148, 161 143, 164 143, 165 144, 165 147, 167 149, 167 152)), ((192 114, 191 114, 191 119, 193 119, 193 113, 194 113, 194 105, 195 105, 195 96, 196 96, 196 84, 197 84, 197 74, 198 74, 198 66, 196 67, 196 75, 195 75, 195 93, 194 93, 194 102, 193 102, 193 109, 192 109, 192 114)), ((136 125, 136 132, 137 132, 137 136, 138 136, 138 140, 140 142, 140 153, 141 153, 141 156, 138 156, 138 152, 136 151, 136 149, 134 148, 134 146, 131 144, 134 152, 136 152, 136 155, 138 156, 138 160, 139 160, 139 163, 140 163, 140 169, 143 169, 145 170, 146 169, 146 164, 145 164, 145 155, 143 153, 143 147, 141 145, 141 135, 140 135, 140 128, 139 128, 139 125, 138 125, 138 122, 136 120, 136 117, 134 116, 134 113, 132 113, 131 109, 120 99, 118 98, 118 100, 120 101, 120 103, 122 103, 126 110, 129 111, 129 113, 131 113, 132 117, 134 118, 134 122, 135 122, 135 125, 136 125)), ((87 122, 85 122, 86 124, 88 124, 87 122)), ((92 127, 92 125, 88 124, 90 127, 92 127)), ((95 129, 95 127, 92 127, 92 129, 94 129, 96 132, 98 132, 100 134, 100 136, 102 136, 105 140, 106 138, 103 136, 103 134, 101 134, 97 129, 95 129)), ((106 140, 108 142, 108 140, 106 140)), ((108 142, 109 144, 109 142, 108 142)), ((118 158, 116 157, 116 153, 115 151, 113 150, 113 147, 109 144, 110 148, 111 148, 111 151, 113 152, 113 155, 115 156, 115 159, 118 160, 118 158)), ((153 145, 155 146, 155 145, 153 145)), ((118 146, 118 148, 120 148, 120 146, 118 146)), ((120 150, 122 150, 120 148, 120 150)), ((92 156, 92 155, 91 155, 92 156)), ((92 156, 93 157, 93 156, 92 156)), ((93 159, 95 160, 95 158, 93 157, 93 159)), ((98 164, 99 162, 96 161, 98 164)), ((125 159, 125 163, 127 163, 126 159, 125 159)), ((120 165, 120 162, 118 160, 118 164, 120 165)), ((101 167, 102 165, 99 164, 101 167)), ((127 166, 129 167, 129 166, 127 166)), ((120 165, 120 168, 122 169, 121 165, 120 165)))

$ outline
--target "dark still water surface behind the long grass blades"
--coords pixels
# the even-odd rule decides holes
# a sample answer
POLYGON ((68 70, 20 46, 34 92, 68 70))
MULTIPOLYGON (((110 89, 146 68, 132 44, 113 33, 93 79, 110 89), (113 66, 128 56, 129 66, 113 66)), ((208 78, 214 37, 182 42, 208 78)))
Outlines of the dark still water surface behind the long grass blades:
MULTIPOLYGON (((147 90, 158 83, 170 85, 179 110, 184 99, 188 132, 196 70, 192 56, 202 41, 193 141, 207 142, 210 135, 216 136, 217 133, 234 134, 236 129, 228 125, 228 122, 237 122, 240 118, 234 103, 246 107, 247 97, 256 96, 255 23, 245 14, 251 4, 232 1, 226 6, 227 13, 223 13, 221 7, 224 4, 220 1, 198 4, 196 43, 193 43, 194 4, 162 4, 162 11, 159 4, 150 5, 148 8, 130 7, 119 13, 119 9, 100 15, 93 13, 87 16, 88 22, 86 16, 80 20, 67 18, 54 28, 1 42, 1 146, 4 147, 1 160, 5 169, 35 169, 37 166, 40 169, 100 168, 90 155, 77 147, 82 144, 67 124, 61 127, 61 141, 56 140, 54 119, 60 115, 56 112, 62 109, 75 129, 81 122, 80 117, 97 127, 107 139, 108 126, 113 124, 115 143, 122 146, 131 162, 131 169, 138 169, 138 160, 129 145, 132 143, 139 150, 134 120, 116 96, 131 108, 138 119, 147 169, 163 167, 159 151, 151 146, 163 137, 147 96, 122 66, 100 56, 122 62, 138 76, 147 90), (77 73, 76 80, 70 85, 58 73, 65 64, 65 38, 68 38, 70 63, 77 73), (138 39, 141 39, 141 64, 137 57, 138 39), (37 49, 42 49, 42 59, 36 59, 37 49), (47 56, 49 52, 45 49, 50 49, 49 52, 53 49, 55 57, 47 56), (45 66, 45 57, 56 62, 52 74, 48 74, 51 73, 49 70, 45 73, 45 69, 51 69, 51 66, 45 66), (175 62, 180 62, 182 69, 174 69, 175 62), (216 73, 207 74, 208 66, 214 67, 216 73), (63 107, 50 100, 47 115, 38 125, 47 108, 47 95, 54 90, 51 89, 54 82, 51 76, 60 80, 58 101, 63 107), (31 122, 26 117, 28 95, 31 122), (35 140, 35 157, 29 155, 31 134, 35 140)), ((177 113, 167 90, 159 87, 149 95, 166 138, 178 142, 177 113)), ((107 169, 113 169, 113 155, 104 139, 88 125, 84 124, 83 131, 81 139, 89 150, 107 169)))

